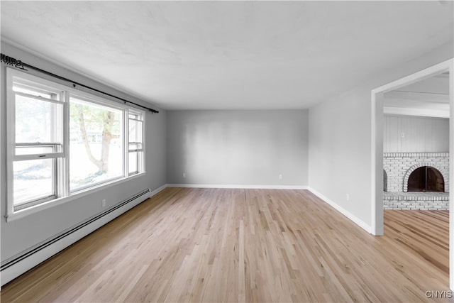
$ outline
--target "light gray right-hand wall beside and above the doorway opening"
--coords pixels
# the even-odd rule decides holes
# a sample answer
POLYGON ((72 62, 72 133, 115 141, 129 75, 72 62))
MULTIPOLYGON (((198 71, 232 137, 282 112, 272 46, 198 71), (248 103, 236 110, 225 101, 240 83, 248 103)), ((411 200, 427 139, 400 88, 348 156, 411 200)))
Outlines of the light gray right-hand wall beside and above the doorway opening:
POLYGON ((309 187, 370 226, 371 90, 452 57, 448 43, 309 109, 309 187))

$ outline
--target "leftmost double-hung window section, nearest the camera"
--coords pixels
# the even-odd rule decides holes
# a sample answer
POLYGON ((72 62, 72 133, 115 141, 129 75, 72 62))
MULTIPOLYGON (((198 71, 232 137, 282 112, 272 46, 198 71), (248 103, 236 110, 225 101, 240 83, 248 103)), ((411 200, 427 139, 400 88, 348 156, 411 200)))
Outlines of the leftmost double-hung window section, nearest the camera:
POLYGON ((65 102, 59 89, 26 80, 13 85, 11 99, 11 195, 20 210, 61 195, 56 172, 65 157, 65 102))

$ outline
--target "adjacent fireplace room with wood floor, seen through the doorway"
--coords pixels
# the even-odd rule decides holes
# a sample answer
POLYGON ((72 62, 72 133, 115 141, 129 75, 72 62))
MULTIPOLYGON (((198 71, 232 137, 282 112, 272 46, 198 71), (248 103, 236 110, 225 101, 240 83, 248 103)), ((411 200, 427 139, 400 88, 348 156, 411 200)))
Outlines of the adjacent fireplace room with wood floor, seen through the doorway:
POLYGON ((385 93, 383 112, 384 225, 448 274, 448 72, 385 93))

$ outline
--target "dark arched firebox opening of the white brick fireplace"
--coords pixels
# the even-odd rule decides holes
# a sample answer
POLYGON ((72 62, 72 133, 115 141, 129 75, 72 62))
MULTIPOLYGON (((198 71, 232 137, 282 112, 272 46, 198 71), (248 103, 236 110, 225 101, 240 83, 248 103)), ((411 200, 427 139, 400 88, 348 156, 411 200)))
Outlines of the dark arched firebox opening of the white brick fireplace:
POLYGON ((409 192, 445 192, 445 180, 436 168, 423 166, 411 172, 409 192))

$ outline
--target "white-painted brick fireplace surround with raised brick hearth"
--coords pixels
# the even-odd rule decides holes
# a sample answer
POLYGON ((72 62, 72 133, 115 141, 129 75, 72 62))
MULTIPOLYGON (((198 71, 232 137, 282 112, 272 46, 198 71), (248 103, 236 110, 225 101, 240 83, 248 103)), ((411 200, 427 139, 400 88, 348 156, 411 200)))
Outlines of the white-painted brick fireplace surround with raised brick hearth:
POLYGON ((449 153, 384 153, 384 209, 449 209, 449 153), (411 172, 431 166, 443 175, 445 192, 407 192, 411 172))

